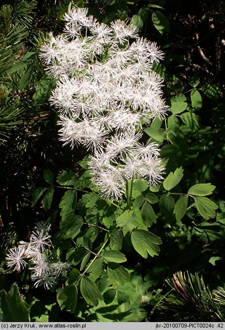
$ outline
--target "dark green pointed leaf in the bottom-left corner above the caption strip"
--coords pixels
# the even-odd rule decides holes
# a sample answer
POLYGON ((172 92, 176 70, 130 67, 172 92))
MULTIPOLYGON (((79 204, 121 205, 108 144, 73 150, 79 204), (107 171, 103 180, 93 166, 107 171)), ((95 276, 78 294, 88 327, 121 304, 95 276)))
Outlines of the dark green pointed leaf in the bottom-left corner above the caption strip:
POLYGON ((13 284, 8 293, 0 296, 1 322, 30 322, 29 310, 20 298, 19 289, 13 284))

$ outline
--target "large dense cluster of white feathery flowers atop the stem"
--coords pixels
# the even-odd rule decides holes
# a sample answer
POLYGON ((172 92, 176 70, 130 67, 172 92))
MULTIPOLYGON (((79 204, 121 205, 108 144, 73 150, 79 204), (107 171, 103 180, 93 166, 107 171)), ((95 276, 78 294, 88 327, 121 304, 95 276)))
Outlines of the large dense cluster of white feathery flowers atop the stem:
POLYGON ((60 113, 60 139, 94 152, 90 170, 105 198, 120 199, 130 178, 157 184, 164 170, 157 145, 138 140, 144 124, 166 115, 162 79, 152 70, 162 52, 135 26, 99 23, 87 8, 64 20, 64 34, 51 35, 40 55, 57 78, 50 101, 60 113))

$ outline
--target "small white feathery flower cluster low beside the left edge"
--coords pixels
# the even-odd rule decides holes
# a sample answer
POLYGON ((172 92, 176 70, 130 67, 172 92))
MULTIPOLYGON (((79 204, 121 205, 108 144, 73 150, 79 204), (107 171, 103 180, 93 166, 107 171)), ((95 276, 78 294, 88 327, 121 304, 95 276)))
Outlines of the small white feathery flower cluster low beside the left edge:
POLYGON ((29 269, 32 271, 34 286, 43 285, 46 289, 50 289, 56 283, 56 277, 68 269, 66 263, 53 263, 48 257, 46 247, 52 245, 49 230, 50 225, 40 221, 35 226, 30 241, 20 241, 18 247, 9 249, 5 257, 8 268, 17 272, 23 270, 29 260, 33 264, 29 269))

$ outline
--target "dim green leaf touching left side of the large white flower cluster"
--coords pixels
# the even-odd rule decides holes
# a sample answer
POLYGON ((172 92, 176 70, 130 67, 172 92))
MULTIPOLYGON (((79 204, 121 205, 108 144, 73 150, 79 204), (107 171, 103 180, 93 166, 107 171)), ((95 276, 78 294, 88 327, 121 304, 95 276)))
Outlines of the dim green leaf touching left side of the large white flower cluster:
POLYGON ((35 105, 42 105, 50 97, 51 92, 56 87, 56 80, 48 76, 42 77, 37 82, 38 88, 33 95, 35 105))

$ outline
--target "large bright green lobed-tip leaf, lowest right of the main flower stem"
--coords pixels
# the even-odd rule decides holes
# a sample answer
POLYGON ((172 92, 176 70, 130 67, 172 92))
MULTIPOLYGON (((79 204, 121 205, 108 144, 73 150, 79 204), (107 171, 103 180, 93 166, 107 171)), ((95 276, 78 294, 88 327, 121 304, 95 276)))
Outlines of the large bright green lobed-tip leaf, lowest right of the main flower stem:
POLYGON ((145 259, 148 257, 148 254, 151 257, 158 256, 160 251, 158 245, 162 244, 160 237, 143 229, 132 231, 131 242, 134 249, 145 259))

